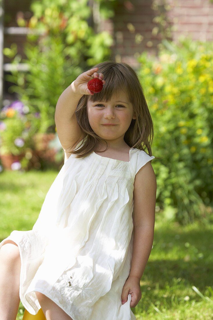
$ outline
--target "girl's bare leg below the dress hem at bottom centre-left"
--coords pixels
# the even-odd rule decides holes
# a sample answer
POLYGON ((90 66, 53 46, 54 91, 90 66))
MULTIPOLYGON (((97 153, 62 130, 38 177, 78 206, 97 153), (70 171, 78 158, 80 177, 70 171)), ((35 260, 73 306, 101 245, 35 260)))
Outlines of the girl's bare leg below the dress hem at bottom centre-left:
POLYGON ((72 320, 64 310, 43 293, 35 291, 35 294, 47 320, 72 320))

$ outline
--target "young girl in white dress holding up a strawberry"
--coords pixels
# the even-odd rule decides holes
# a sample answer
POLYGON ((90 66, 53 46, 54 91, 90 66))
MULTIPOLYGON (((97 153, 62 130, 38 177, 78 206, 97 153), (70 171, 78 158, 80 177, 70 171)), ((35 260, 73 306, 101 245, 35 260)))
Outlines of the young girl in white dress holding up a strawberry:
POLYGON ((20 300, 47 320, 136 319, 156 203, 153 123, 137 74, 97 64, 61 94, 55 122, 65 163, 33 229, 0 243, 1 319, 15 320, 20 300), (87 88, 93 78, 101 92, 87 88))

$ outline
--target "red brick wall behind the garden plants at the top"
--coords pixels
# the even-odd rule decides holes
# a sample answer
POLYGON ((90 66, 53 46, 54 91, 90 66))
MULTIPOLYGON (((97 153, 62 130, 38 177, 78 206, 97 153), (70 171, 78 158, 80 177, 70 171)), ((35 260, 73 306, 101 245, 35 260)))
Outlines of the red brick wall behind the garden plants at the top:
MULTIPOLYGON (((167 0, 171 9, 167 17, 173 26, 172 40, 180 35, 191 36, 194 40, 213 40, 213 4, 210 0, 167 0)), ((151 0, 120 1, 115 17, 108 21, 114 29, 113 55, 117 61, 126 61, 137 68, 137 56, 147 50, 157 54, 161 37, 152 34, 157 26, 153 18, 158 12, 152 9, 151 0), (135 43, 136 34, 142 36, 135 43)), ((103 29, 106 25, 103 25, 103 29)))

